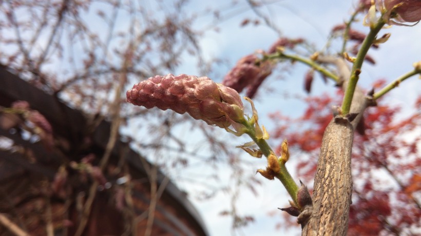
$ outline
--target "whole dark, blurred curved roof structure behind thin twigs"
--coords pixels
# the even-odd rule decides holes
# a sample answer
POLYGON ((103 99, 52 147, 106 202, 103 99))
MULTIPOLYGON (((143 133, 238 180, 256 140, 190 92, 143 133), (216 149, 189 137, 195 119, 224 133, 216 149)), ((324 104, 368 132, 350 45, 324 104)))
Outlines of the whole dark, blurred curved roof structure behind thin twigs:
MULTIPOLYGON (((4 139, 0 139, 0 235, 15 235, 16 232, 11 233, 13 226, 30 235, 47 235, 48 229, 53 230, 54 235, 74 235, 83 211, 81 205, 89 195, 94 178, 87 174, 86 180, 81 181, 82 175, 69 166, 83 162, 88 154, 97 157, 92 166, 98 165, 108 143, 110 124, 102 121, 92 129, 82 112, 66 106, 55 96, 30 85, 2 66, 0 106, 0 137, 13 142, 13 148, 8 150, 2 144, 4 139), (10 117, 1 110, 2 107, 9 108, 19 100, 27 101, 30 109, 45 116, 51 124, 54 142, 62 143, 61 148, 48 150, 43 142, 25 135, 22 127, 5 125, 10 117), (62 195, 51 190, 51 183, 56 181, 61 168, 67 173, 67 187, 62 195), (11 224, 7 225, 3 220, 11 224)), ((147 169, 154 166, 133 151, 128 143, 121 141, 114 145, 109 163, 106 179, 112 185, 97 190, 82 235, 125 235, 128 231, 144 235, 152 202, 147 169), (123 175, 109 174, 120 168, 122 161, 129 167, 130 204, 124 199, 127 195, 119 197, 118 193, 127 193, 124 184, 118 183, 123 175), (119 202, 130 210, 122 210, 121 205, 119 209, 119 202), (127 219, 136 221, 132 222, 131 229, 128 229, 127 219)), ((159 171, 156 183, 158 187, 161 184, 166 186, 157 198, 150 235, 208 235, 200 215, 185 194, 159 171)))

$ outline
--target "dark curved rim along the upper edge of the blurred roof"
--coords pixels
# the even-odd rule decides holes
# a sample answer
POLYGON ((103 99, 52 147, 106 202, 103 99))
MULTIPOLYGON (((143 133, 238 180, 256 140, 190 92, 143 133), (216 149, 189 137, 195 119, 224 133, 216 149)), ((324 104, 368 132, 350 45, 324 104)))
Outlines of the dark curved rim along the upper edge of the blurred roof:
MULTIPOLYGON (((63 102, 59 101, 56 97, 47 94, 39 88, 36 88, 29 84, 28 82, 22 80, 19 76, 11 73, 13 71, 10 68, 7 68, 3 65, 0 65, 0 105, 6 106, 5 103, 11 103, 16 100, 24 100, 30 104, 31 109, 40 111, 46 119, 51 123, 54 133, 60 132, 63 130, 63 127, 67 127, 68 124, 72 125, 72 128, 78 127, 84 129, 86 125, 86 119, 84 114, 79 111, 68 107, 63 102), (5 101, 1 101, 6 99, 5 101), (55 128, 55 129, 54 129, 55 128), (62 129, 60 129, 62 128, 62 129)), ((9 104, 10 105, 10 104, 9 104)), ((60 133, 61 136, 66 137, 67 139, 77 139, 80 135, 81 130, 66 130, 68 133, 60 133)), ((106 121, 102 121, 98 126, 97 130, 94 133, 108 133, 110 131, 110 124, 106 121)), ((108 139, 104 139, 103 135, 98 135, 98 133, 93 135, 93 141, 96 145, 105 149, 108 139)), ((117 142, 113 149, 113 155, 118 153, 118 150, 121 150, 123 146, 127 146, 126 143, 121 141, 117 142)), ((126 159, 133 167, 136 167, 140 172, 146 173, 139 156, 143 159, 144 156, 137 153, 136 151, 129 149, 126 159)), ((145 159, 146 160, 146 159, 145 159)), ((146 160, 147 162, 147 160, 146 160)), ((147 162, 149 165, 149 162, 147 162)), ((165 179, 165 175, 158 171, 158 182, 161 183, 165 179)), ((164 193, 168 194, 171 198, 177 201, 182 205, 191 217, 191 220, 196 221, 198 227, 203 232, 202 235, 209 235, 207 228, 201 218, 197 209, 193 204, 188 201, 185 197, 185 194, 176 187, 176 185, 169 181, 167 187, 165 188, 164 193)))

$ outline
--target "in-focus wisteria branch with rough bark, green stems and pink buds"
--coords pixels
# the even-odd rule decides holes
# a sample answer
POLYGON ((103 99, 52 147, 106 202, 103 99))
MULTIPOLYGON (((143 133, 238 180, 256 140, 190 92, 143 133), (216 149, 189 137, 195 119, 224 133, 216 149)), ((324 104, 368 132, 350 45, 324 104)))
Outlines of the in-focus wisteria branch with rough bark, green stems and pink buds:
POLYGON ((351 155, 354 131, 358 130, 361 134, 365 132, 362 117, 368 107, 376 106, 377 100, 399 83, 421 73, 421 62, 415 62, 411 71, 367 93, 357 86, 362 64, 365 61, 375 63, 368 55, 369 49, 386 43, 391 36, 379 34, 385 25, 417 22, 421 19, 420 11, 420 1, 360 1, 351 19, 332 30, 333 33, 341 33, 343 37, 339 56, 325 55, 318 51, 307 57, 294 54, 291 49, 305 42, 280 38, 269 50, 260 51, 260 55, 251 54, 241 58, 224 77, 222 84, 208 77, 185 74, 154 76, 128 90, 127 102, 146 108, 171 109, 180 114, 187 112, 197 120, 224 128, 237 136, 247 134, 252 141, 238 147, 255 158, 265 156, 266 167, 257 172, 268 180, 280 180, 288 191, 292 199, 290 206, 279 209, 297 217, 302 235, 345 235, 352 202, 351 155), (352 29, 356 15, 361 13, 365 14, 364 24, 369 27, 367 34, 352 29), (347 48, 349 42, 355 43, 352 50, 347 48), (238 94, 248 87, 247 94, 253 97, 275 65, 288 61, 309 66, 310 71, 305 75, 305 90, 308 92, 311 91, 314 72, 318 72, 325 80, 333 80, 343 92, 341 105, 333 107, 331 121, 322 129, 312 195, 301 181, 300 186, 296 184, 285 167, 290 155, 293 155, 289 151, 288 142, 282 142, 277 155, 266 142, 269 133, 264 126, 259 125, 253 101, 244 97, 252 108, 251 114, 244 114, 238 94), (347 62, 352 64, 351 68, 348 68, 347 62), (337 71, 326 65, 333 65, 337 71), (253 145, 258 148, 252 148, 253 145))

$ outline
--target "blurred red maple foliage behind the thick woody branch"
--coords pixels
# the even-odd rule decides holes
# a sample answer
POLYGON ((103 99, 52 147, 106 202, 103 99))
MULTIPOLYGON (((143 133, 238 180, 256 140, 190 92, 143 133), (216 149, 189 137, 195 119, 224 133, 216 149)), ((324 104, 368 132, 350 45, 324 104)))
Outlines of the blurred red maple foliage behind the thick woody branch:
MULTIPOLYGON (((286 137, 296 153, 303 153, 297 157, 297 172, 308 184, 315 176, 323 132, 332 120, 329 107, 342 99, 341 91, 337 93, 308 97, 308 107, 298 119, 271 115, 278 125, 273 137, 286 137)), ((398 117, 399 107, 382 101, 366 110, 363 135, 355 135, 353 142, 348 235, 411 235, 421 227, 420 108, 421 96, 415 101, 415 111, 404 118, 398 117)))

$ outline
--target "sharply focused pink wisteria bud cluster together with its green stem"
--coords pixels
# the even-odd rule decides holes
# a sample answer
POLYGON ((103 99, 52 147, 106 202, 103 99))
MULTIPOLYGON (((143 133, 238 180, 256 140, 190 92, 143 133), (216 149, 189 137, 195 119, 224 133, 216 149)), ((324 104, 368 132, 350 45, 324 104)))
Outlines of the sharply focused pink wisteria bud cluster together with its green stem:
POLYGON ((217 84, 208 77, 186 74, 150 77, 134 85, 127 91, 126 96, 127 102, 138 106, 171 109, 180 114, 187 112, 197 120, 219 126, 237 136, 246 133, 253 141, 240 147, 256 158, 261 158, 262 155, 267 158, 266 169, 258 169, 257 172, 269 180, 276 177, 284 184, 292 196, 291 205, 295 211, 311 204, 311 201, 308 201, 310 199, 308 191, 301 190, 299 194, 298 186, 285 168, 285 163, 289 159, 288 144, 284 142, 282 156, 275 155, 266 142, 269 139, 269 133, 264 126, 259 125, 257 110, 248 97, 244 99, 250 102, 253 113, 250 116, 244 116, 243 104, 237 91, 217 84), (230 129, 230 126, 234 130, 230 129), (259 149, 249 148, 254 144, 259 149), (305 201, 299 201, 302 198, 305 198, 305 201))

